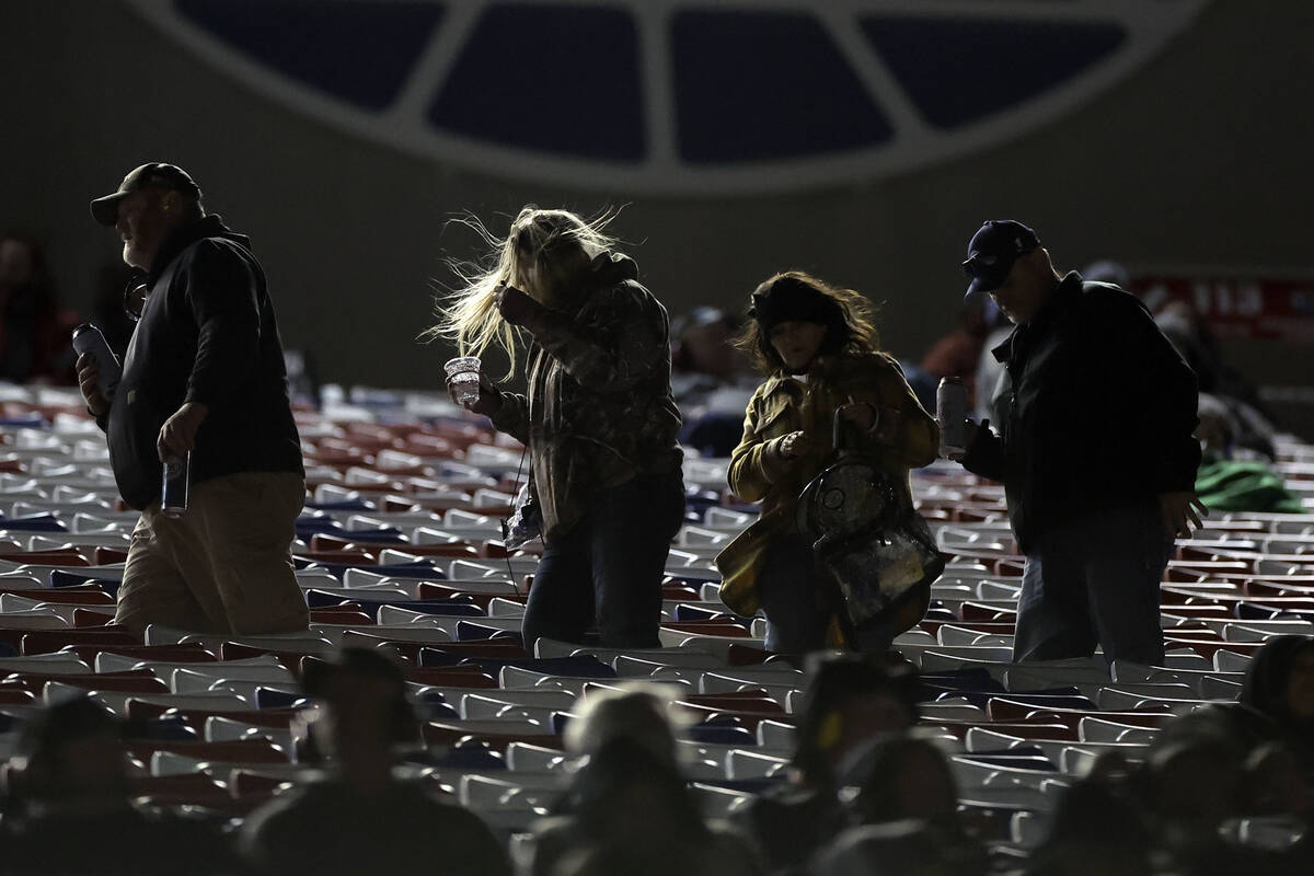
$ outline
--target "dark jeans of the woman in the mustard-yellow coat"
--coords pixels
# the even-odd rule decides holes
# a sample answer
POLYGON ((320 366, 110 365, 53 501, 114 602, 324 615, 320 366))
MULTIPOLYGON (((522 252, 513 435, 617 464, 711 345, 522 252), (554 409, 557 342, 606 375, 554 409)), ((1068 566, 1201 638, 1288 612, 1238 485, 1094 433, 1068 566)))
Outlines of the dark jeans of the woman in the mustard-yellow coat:
MULTIPOLYGON (((840 594, 829 575, 821 571, 812 546, 798 535, 778 536, 766 549, 757 591, 766 615, 766 650, 804 654, 827 647, 830 617, 844 611, 840 594)), ((857 650, 883 654, 896 636, 894 617, 879 619, 853 630, 857 650)))

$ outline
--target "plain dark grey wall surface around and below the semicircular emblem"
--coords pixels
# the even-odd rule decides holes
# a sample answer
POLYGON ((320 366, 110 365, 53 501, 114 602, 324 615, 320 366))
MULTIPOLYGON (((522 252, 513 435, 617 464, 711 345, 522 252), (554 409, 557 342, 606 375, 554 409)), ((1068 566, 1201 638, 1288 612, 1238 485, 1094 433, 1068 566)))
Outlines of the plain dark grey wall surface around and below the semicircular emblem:
MULTIPOLYGON (((0 29, 0 225, 47 236, 64 297, 85 306, 96 267, 117 259, 87 200, 143 160, 175 162, 254 236, 285 341, 317 351, 330 380, 436 386, 447 351, 414 338, 442 257, 473 243, 443 222, 527 201, 627 204, 614 229, 641 242, 673 313, 736 306, 767 273, 804 267, 882 301, 887 345, 912 357, 951 327, 984 218, 1031 222, 1060 267, 1310 265, 1305 0, 1214 0, 1146 67, 1008 144, 874 184, 717 200, 569 192, 402 155, 254 95, 110 0, 7 1, 0 29)), ((1261 381, 1314 383, 1314 357, 1230 349, 1261 381)))

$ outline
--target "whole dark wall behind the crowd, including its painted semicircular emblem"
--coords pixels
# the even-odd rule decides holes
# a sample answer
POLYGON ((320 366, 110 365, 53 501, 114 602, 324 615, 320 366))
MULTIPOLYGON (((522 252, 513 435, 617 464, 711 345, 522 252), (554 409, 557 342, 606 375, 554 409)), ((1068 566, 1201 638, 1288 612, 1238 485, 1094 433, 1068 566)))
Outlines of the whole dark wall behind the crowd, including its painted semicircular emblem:
MULTIPOLYGON (((624 205, 673 311, 803 267, 883 302, 908 357, 984 218, 1063 267, 1310 267, 1301 0, 17 0, 0 26, 0 221, 49 238, 71 303, 117 255, 87 198, 172 160, 330 380, 436 385, 445 351, 413 341, 474 243, 444 221, 528 201, 624 205)), ((1230 344, 1314 383, 1279 348, 1230 344)))

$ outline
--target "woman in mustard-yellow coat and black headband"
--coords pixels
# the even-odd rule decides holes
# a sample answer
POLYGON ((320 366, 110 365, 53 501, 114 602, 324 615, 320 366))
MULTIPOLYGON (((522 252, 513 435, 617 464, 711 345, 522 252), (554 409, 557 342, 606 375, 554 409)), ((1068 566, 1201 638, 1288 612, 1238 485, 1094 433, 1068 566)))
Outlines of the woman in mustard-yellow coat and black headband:
POLYGON ((741 615, 766 615, 773 651, 883 651, 921 620, 925 602, 899 604, 884 619, 846 630, 837 586, 799 532, 798 498, 834 461, 837 411, 859 448, 894 475, 908 507, 908 470, 936 458, 940 429, 899 364, 879 351, 871 306, 857 292, 790 271, 757 288, 749 315, 737 343, 767 380, 749 401, 729 486, 741 499, 761 502, 762 516, 716 558, 721 599, 741 615))

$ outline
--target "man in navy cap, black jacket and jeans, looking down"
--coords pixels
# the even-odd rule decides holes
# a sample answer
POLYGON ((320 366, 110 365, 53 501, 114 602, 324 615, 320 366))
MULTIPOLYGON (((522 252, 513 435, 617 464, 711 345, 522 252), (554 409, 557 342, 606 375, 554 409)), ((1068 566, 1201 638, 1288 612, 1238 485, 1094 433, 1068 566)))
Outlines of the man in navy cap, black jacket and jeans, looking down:
POLYGON ((1026 554, 1013 659, 1163 662, 1159 582, 1173 537, 1204 512, 1196 377, 1134 296, 1060 276, 1035 232, 987 222, 963 263, 1017 328, 1004 362, 1004 429, 968 424, 962 464, 1003 481, 1026 554))

